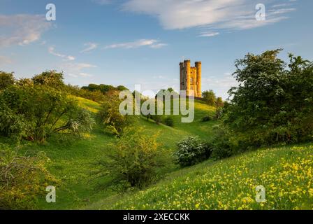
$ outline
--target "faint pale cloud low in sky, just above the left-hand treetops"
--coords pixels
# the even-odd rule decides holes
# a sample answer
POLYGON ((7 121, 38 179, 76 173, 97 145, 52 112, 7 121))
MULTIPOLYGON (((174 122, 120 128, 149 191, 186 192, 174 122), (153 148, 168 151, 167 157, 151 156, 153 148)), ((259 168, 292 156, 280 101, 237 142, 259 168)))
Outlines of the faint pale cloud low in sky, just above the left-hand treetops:
POLYGON ((72 63, 72 62, 69 62, 69 63, 66 63, 66 64, 62 64, 60 66, 60 70, 64 71, 64 73, 66 73, 66 75, 68 76, 72 76, 72 77, 75 77, 75 78, 78 78, 78 77, 91 77, 92 74, 90 73, 87 73, 83 70, 85 69, 93 69, 93 68, 96 68, 95 65, 93 64, 87 64, 87 63, 72 63))

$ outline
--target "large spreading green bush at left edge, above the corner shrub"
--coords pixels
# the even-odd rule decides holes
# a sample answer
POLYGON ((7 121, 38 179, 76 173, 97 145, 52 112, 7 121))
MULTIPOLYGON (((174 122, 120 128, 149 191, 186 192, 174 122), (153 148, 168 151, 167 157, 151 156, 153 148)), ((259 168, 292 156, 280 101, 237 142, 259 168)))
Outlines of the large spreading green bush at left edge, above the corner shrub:
POLYGON ((0 133, 45 141, 53 132, 82 134, 94 120, 66 93, 44 85, 13 85, 0 94, 0 133))

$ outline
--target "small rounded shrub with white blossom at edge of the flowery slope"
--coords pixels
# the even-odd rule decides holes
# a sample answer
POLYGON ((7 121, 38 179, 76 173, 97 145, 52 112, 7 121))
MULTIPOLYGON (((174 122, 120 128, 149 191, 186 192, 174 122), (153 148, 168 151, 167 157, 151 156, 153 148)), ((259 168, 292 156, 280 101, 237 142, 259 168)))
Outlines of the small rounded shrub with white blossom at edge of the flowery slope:
POLYGON ((175 162, 182 167, 195 165, 210 158, 211 148, 210 144, 203 143, 198 137, 187 137, 177 143, 175 162))

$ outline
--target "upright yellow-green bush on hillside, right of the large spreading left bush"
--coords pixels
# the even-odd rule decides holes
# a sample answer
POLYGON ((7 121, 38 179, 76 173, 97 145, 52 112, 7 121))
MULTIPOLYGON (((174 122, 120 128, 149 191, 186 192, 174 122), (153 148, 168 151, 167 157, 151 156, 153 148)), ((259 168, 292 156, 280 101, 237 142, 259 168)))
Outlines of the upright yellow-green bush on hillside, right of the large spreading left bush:
POLYGON ((98 113, 99 123, 105 125, 105 128, 110 130, 112 134, 121 137, 126 128, 132 123, 131 116, 124 116, 119 113, 119 104, 122 99, 119 99, 117 93, 106 96, 105 103, 101 105, 101 110, 98 113))

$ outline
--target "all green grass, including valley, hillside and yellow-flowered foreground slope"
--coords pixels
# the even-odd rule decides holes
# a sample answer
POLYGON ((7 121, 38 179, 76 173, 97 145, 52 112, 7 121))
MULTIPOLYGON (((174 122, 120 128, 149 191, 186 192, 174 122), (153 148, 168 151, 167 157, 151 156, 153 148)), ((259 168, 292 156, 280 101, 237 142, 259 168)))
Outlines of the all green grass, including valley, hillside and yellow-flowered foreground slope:
MULTIPOLYGON (((80 106, 96 113, 100 105, 77 98, 80 106)), ((214 108, 195 102, 194 123, 174 127, 157 125, 136 117, 133 127, 145 134, 159 133, 158 141, 168 151, 177 141, 196 135, 210 139, 216 121, 203 123, 201 118, 213 114, 214 108)), ((186 169, 170 162, 164 178, 142 191, 118 195, 98 186, 108 179, 94 179, 95 162, 108 157, 115 137, 96 125, 85 139, 61 138, 57 135, 44 145, 28 144, 28 153, 44 151, 51 162, 48 169, 60 180, 57 203, 39 198, 39 209, 313 209, 313 145, 263 148, 227 160, 208 160, 186 169), (256 203, 256 186, 266 189, 266 202, 256 203)))

